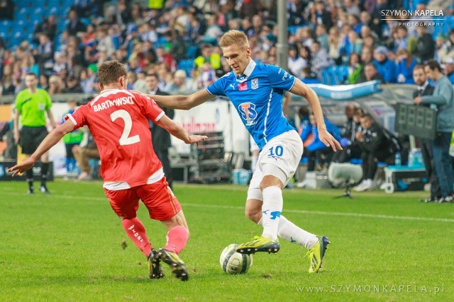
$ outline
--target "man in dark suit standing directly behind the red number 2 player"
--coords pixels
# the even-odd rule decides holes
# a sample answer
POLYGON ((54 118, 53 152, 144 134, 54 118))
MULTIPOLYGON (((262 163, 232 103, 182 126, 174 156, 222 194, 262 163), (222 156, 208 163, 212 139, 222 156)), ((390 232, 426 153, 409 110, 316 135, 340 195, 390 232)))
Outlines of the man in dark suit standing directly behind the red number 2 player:
MULTIPOLYGON (((147 93, 150 95, 169 95, 164 91, 160 91, 157 84, 159 83, 157 79, 157 74, 147 74, 145 77, 147 93)), ((167 117, 173 119, 175 116, 175 110, 171 108, 161 108, 167 117)), ((148 120, 150 124, 150 131, 152 133, 151 139, 153 141, 153 149, 156 153, 157 158, 162 163, 162 170, 164 171, 165 178, 169 183, 170 189, 172 189, 172 169, 170 168, 169 161, 169 148, 172 146, 170 143, 170 133, 167 130, 157 126, 151 120, 148 120)))

